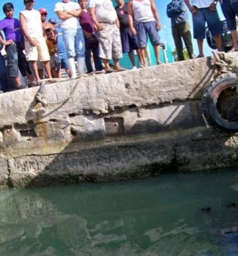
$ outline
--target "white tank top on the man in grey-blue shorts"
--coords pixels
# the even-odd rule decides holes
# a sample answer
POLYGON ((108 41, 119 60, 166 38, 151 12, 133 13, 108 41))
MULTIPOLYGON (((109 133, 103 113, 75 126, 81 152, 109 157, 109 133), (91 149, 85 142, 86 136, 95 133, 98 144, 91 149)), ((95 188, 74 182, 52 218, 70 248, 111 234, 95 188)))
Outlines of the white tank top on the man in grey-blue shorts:
POLYGON ((134 19, 137 22, 155 21, 150 0, 133 0, 134 19))

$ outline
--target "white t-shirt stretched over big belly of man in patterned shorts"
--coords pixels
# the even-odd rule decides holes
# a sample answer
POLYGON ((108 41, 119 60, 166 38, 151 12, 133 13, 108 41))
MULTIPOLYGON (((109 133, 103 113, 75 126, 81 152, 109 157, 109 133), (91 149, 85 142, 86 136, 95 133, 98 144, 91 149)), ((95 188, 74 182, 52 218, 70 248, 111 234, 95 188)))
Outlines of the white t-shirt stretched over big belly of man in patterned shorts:
POLYGON ((90 7, 95 7, 95 16, 98 22, 114 22, 117 20, 117 12, 111 0, 90 0, 90 7))

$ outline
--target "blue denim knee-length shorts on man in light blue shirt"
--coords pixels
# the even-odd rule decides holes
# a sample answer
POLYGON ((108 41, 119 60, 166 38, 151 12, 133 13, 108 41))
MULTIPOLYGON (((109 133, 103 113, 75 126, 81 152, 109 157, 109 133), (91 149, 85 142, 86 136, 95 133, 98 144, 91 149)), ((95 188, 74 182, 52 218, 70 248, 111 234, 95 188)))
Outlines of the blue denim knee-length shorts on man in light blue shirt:
POLYGON ((210 13, 209 8, 198 8, 197 13, 192 15, 192 21, 194 24, 194 39, 205 39, 206 22, 211 35, 221 35, 222 33, 221 20, 217 11, 210 13))

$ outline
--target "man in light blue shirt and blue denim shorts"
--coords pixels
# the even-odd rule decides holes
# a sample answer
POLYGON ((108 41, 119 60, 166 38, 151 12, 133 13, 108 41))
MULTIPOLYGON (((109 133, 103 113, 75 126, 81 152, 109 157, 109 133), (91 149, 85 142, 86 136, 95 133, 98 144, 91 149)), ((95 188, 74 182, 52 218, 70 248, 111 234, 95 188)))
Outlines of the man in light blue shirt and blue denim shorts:
POLYGON ((221 20, 217 12, 218 0, 185 0, 188 9, 192 13, 192 21, 194 25, 194 39, 197 39, 199 55, 198 58, 204 57, 204 39, 206 22, 208 29, 213 35, 218 51, 221 50, 221 20))

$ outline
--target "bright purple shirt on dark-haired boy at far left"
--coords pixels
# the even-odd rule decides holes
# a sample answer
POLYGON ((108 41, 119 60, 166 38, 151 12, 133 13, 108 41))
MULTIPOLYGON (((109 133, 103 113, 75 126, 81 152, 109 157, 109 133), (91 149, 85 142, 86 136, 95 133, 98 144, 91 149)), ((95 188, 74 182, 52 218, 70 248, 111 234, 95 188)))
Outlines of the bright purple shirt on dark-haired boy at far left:
POLYGON ((5 34, 6 40, 12 39, 16 43, 23 42, 21 23, 15 18, 5 18, 0 21, 0 30, 5 34))

